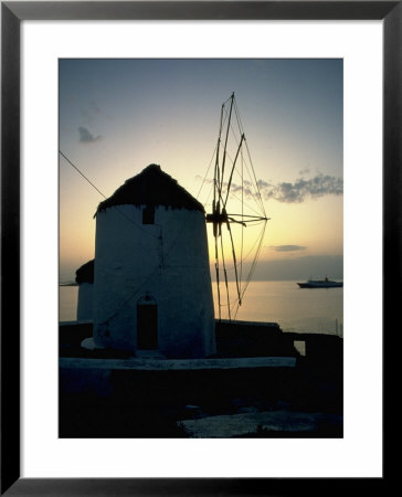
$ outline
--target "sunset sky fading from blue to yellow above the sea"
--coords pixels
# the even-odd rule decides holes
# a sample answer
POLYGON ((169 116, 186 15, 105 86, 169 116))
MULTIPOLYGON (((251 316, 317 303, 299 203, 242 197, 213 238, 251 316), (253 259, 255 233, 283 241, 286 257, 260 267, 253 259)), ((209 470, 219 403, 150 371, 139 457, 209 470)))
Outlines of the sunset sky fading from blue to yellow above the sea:
MULTIPOLYGON (((341 60, 61 60, 60 150, 106 197, 158 163, 204 202, 234 92, 271 218, 255 278, 342 278, 342 80, 341 60)), ((62 282, 94 257, 102 200, 60 157, 62 282)))

